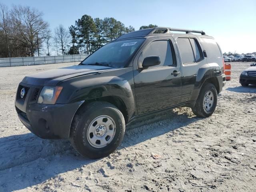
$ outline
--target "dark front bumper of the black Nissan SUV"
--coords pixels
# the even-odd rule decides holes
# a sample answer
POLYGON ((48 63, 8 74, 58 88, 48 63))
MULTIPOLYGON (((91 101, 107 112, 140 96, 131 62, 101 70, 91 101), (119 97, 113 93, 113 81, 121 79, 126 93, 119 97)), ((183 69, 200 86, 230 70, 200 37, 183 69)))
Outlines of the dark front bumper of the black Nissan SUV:
POLYGON ((26 112, 17 106, 20 121, 35 135, 44 139, 69 138, 74 114, 84 101, 70 104, 29 104, 26 112))

